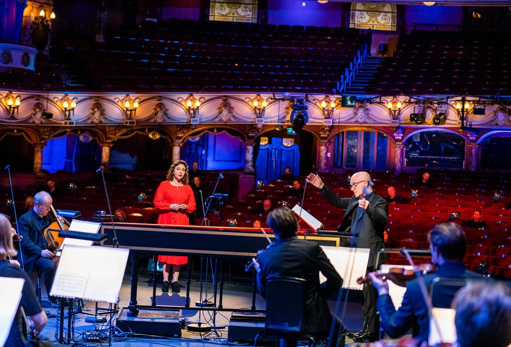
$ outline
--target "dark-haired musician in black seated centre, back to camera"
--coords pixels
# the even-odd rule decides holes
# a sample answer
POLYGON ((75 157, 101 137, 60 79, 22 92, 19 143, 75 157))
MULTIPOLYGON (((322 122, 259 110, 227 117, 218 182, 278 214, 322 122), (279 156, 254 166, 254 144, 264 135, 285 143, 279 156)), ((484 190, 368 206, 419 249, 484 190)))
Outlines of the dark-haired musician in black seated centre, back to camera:
MULTIPOLYGON (((332 323, 332 313, 327 297, 339 289, 341 277, 315 241, 300 240, 296 237, 298 222, 295 214, 283 206, 274 209, 266 220, 273 230, 276 242, 265 252, 252 259, 257 271, 258 289, 266 298, 266 280, 271 276, 290 276, 307 281, 307 313, 305 333, 316 338, 326 338, 332 323), (286 261, 282 261, 285 259, 286 261), (319 283, 319 271, 327 281, 319 283)), ((285 295, 285 293, 283 293, 285 295)), ((346 328, 341 323, 342 333, 338 345, 344 345, 346 328)), ((286 345, 295 345, 296 341, 281 341, 286 345)))

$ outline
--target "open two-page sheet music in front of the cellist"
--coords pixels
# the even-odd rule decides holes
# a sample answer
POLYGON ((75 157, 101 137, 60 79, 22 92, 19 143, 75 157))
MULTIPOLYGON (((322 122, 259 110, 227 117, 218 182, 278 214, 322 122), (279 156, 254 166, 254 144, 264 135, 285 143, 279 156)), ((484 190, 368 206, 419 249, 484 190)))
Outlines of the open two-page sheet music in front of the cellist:
POLYGON ((115 303, 129 249, 66 245, 50 295, 115 303))

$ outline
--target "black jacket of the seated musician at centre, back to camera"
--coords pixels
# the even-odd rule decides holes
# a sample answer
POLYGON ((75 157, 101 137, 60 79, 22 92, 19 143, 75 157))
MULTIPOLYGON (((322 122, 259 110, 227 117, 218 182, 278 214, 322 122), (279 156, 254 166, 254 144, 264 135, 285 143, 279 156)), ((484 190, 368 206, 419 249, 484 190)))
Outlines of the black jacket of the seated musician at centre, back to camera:
POLYGON ((332 313, 327 297, 339 289, 342 279, 317 242, 300 240, 296 236, 280 240, 261 253, 258 262, 261 271, 258 272, 257 283, 263 298, 266 298, 268 277, 302 278, 307 281, 305 333, 330 329, 332 313), (319 284, 319 271, 327 278, 322 284, 319 284))

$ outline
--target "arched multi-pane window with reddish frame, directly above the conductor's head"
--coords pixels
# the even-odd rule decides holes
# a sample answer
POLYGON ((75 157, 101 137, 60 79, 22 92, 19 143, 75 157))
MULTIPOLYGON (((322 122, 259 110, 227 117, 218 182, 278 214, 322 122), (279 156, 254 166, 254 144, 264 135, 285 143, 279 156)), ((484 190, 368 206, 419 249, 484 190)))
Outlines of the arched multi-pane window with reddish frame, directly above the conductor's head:
POLYGON ((387 169, 388 139, 379 133, 346 131, 334 137, 334 168, 387 169))

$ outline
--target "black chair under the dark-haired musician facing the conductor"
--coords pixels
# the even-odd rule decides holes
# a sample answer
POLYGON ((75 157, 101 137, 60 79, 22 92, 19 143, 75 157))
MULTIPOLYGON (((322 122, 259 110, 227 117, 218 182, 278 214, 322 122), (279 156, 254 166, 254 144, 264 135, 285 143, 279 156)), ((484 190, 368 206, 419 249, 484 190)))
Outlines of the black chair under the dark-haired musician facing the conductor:
POLYGON ((266 281, 266 321, 264 332, 255 336, 254 347, 260 337, 309 340, 309 347, 316 342, 304 334, 307 296, 305 280, 295 277, 273 276, 266 281))

